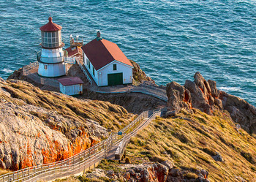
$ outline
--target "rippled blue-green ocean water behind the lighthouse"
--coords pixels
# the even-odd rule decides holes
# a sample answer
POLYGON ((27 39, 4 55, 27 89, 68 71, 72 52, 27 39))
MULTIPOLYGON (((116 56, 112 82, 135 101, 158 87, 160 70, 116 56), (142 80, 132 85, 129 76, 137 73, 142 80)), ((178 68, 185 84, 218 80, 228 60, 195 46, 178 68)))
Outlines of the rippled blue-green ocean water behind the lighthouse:
POLYGON ((200 72, 217 87, 256 106, 256 1, 3 1, 0 77, 36 61, 39 27, 48 17, 69 35, 102 37, 137 61, 157 84, 184 84, 200 72))

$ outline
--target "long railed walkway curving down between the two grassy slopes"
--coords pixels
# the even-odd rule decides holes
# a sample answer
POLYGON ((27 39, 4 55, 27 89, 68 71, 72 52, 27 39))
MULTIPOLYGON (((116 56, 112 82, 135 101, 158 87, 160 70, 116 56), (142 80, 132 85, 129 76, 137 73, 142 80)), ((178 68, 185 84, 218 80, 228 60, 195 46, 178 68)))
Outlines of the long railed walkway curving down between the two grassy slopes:
MULTIPOLYGON (((123 129, 121 129, 119 132, 127 132, 130 128, 135 126, 135 124, 138 124, 141 119, 148 118, 148 120, 144 121, 140 126, 137 126, 135 129, 132 129, 129 133, 127 133, 125 139, 125 145, 129 142, 129 139, 132 136, 135 136, 140 129, 143 129, 143 127, 147 126, 147 124, 152 121, 156 115, 160 115, 159 113, 162 113, 166 109, 157 109, 157 110, 147 110, 138 115, 135 120, 133 120, 131 123, 129 123, 127 126, 125 126, 123 129), (149 117, 148 117, 149 116, 149 117)), ((122 139, 122 138, 121 138, 122 139)), ((83 170, 86 169, 87 166, 91 167, 91 162, 87 161, 93 161, 94 165, 97 163, 97 159, 103 159, 104 158, 104 153, 108 153, 110 151, 111 146, 119 142, 121 139, 117 140, 117 133, 110 134, 110 137, 108 139, 103 140, 100 143, 97 143, 96 145, 92 146, 91 148, 87 148, 85 151, 81 151, 80 153, 75 154, 72 157, 69 157, 68 159, 64 159, 59 162, 53 162, 49 164, 42 164, 39 166, 34 166, 34 167, 28 167, 23 170, 18 170, 14 172, 7 173, 5 175, 0 176, 0 181, 6 182, 6 181, 33 181, 33 179, 54 179, 54 177, 50 177, 47 174, 52 172, 56 172, 56 170, 61 170, 59 172, 60 177, 63 177, 65 174, 73 175, 81 171, 81 167, 83 167, 83 170), (96 155, 101 155, 97 157, 97 159, 93 159, 96 155), (83 162, 83 163, 82 163, 83 162), (79 167, 78 167, 79 165, 79 167), (67 170, 73 167, 78 167, 78 170, 67 170), (68 173, 69 172, 69 173, 68 173), (76 173, 75 173, 76 172, 76 173)), ((100 161, 100 160, 99 160, 100 161)), ((82 170, 82 171, 83 171, 82 170)), ((55 174, 55 173, 54 173, 55 174)))

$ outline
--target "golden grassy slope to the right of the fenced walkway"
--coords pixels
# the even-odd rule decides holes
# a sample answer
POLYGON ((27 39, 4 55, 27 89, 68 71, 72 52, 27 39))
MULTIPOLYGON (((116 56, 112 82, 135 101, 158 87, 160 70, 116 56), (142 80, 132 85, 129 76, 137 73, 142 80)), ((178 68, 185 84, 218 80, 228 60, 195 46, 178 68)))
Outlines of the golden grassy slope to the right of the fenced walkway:
MULTIPOLYGON (((236 126, 227 113, 206 115, 182 111, 175 118, 157 118, 133 137, 127 146, 131 161, 173 161, 177 167, 206 169, 210 181, 256 181, 255 137, 236 126), (224 162, 212 158, 220 153, 224 162), (134 159, 133 159, 134 158, 134 159)), ((192 172, 192 171, 191 171, 192 172)), ((193 172, 192 172, 193 173, 193 172)), ((192 178, 194 174, 188 173, 192 178)))

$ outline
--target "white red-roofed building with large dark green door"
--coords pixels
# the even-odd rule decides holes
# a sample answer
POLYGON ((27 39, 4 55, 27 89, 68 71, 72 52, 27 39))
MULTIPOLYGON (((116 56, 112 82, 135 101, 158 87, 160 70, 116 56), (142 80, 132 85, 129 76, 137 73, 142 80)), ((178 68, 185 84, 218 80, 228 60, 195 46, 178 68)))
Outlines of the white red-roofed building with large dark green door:
POLYGON ((97 86, 132 83, 132 64, 113 42, 100 37, 83 45, 83 63, 97 86))

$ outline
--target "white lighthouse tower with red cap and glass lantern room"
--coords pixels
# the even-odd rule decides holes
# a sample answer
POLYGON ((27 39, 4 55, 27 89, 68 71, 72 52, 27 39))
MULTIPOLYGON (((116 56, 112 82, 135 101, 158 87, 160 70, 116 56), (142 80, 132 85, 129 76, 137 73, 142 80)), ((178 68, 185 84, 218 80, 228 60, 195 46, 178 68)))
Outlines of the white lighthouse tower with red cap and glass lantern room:
POLYGON ((37 53, 38 74, 43 77, 60 77, 66 75, 62 50, 64 43, 61 42, 62 27, 53 23, 53 18, 48 19, 49 22, 40 27, 42 51, 37 53))

